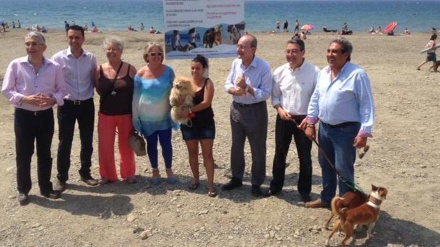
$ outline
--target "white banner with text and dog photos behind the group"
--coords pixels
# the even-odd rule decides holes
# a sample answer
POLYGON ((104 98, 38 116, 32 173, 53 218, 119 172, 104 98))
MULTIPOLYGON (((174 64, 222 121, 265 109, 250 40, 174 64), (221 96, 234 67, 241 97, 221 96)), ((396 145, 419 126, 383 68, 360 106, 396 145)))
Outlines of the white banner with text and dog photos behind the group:
POLYGON ((235 57, 244 0, 163 0, 166 59, 235 57))

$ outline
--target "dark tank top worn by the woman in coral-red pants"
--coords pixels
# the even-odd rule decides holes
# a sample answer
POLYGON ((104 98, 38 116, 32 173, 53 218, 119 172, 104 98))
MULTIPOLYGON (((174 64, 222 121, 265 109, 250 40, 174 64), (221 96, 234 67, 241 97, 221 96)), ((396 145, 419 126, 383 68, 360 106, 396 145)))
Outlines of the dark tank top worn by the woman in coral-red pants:
MULTIPOLYGON (((99 65, 99 85, 98 89, 101 93, 99 98, 99 112, 105 115, 126 115, 131 114, 131 101, 133 99, 133 79, 129 76, 130 65, 128 64, 127 74, 117 79, 123 80, 124 84, 121 87, 115 87, 115 95, 112 95, 113 80, 104 76, 102 66, 99 65)), ((114 93, 113 93, 114 94, 114 93)))

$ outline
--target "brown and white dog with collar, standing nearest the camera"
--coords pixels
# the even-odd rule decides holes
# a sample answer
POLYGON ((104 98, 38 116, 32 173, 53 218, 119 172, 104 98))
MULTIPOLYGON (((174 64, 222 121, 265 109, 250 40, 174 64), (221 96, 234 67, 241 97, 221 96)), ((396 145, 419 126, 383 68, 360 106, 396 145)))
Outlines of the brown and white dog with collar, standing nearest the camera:
POLYGON ((382 187, 376 187, 371 185, 371 194, 369 195, 368 202, 361 206, 348 210, 342 208, 336 211, 336 205, 342 198, 334 197, 331 200, 331 211, 338 214, 339 220, 334 224, 333 231, 328 235, 325 245, 328 246, 333 234, 341 229, 345 233, 345 238, 342 240, 342 247, 351 238, 354 230, 354 225, 368 225, 366 232, 367 238, 371 237, 371 230, 374 227, 377 219, 379 218, 380 204, 386 199, 387 190, 382 187))

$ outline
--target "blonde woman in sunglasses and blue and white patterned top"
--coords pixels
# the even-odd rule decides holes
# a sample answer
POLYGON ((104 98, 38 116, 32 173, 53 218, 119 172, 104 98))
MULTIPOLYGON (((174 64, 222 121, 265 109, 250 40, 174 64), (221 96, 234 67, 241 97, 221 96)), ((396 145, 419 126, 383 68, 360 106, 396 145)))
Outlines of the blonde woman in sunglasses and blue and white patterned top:
POLYGON ((163 49, 157 43, 149 43, 143 52, 143 59, 147 63, 137 71, 134 77, 133 90, 133 126, 146 139, 146 152, 153 168, 153 184, 160 183, 160 174, 157 161, 157 139, 162 147, 162 156, 165 161, 166 182, 177 182, 171 170, 172 146, 171 128, 176 126, 171 121, 169 93, 174 80, 174 71, 171 67, 162 64, 163 49))

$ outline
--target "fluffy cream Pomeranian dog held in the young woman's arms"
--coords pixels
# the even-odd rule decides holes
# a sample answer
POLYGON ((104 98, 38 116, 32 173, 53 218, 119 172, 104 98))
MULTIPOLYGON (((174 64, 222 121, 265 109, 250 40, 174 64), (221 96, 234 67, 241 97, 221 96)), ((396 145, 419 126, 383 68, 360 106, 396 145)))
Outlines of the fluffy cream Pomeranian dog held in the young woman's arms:
POLYGON ((188 116, 180 117, 180 113, 184 108, 191 107, 194 91, 192 90, 191 80, 184 76, 177 76, 172 82, 171 93, 169 94, 169 104, 171 105, 171 120, 174 123, 181 123, 191 126, 191 120, 188 116), (183 103, 176 105, 179 99, 183 99, 183 103))

